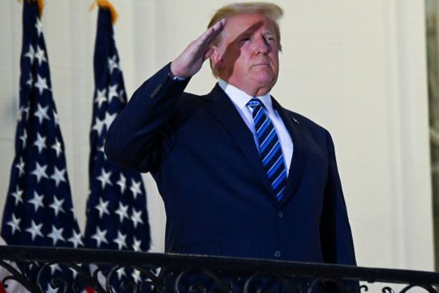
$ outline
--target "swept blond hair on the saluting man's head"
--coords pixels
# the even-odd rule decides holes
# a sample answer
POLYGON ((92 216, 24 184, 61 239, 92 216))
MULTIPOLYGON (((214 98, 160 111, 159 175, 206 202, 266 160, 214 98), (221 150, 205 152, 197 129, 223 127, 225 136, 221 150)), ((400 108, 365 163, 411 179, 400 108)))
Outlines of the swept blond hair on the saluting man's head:
MULTIPOLYGON (((221 19, 230 19, 239 14, 261 14, 266 16, 270 21, 273 22, 276 42, 279 51, 282 51, 282 46, 280 44, 280 29, 279 20, 283 16, 283 10, 278 5, 268 2, 243 2, 243 3, 232 3, 221 7, 214 14, 212 19, 209 21, 207 28, 213 26, 217 21, 221 19)), ((214 45, 220 44, 222 41, 222 34, 220 34, 217 39, 213 42, 214 45)), ((210 68, 212 69, 212 74, 218 77, 218 71, 215 65, 210 61, 210 68)))

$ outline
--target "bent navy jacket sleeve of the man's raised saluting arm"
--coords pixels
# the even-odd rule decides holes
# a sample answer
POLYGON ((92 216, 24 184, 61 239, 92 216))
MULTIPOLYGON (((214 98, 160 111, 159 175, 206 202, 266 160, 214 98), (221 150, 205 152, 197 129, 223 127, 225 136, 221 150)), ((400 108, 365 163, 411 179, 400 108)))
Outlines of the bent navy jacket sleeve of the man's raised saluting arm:
POLYGON ((121 166, 141 172, 160 165, 162 143, 172 129, 167 120, 189 82, 169 77, 170 64, 144 82, 108 129, 105 154, 121 166))

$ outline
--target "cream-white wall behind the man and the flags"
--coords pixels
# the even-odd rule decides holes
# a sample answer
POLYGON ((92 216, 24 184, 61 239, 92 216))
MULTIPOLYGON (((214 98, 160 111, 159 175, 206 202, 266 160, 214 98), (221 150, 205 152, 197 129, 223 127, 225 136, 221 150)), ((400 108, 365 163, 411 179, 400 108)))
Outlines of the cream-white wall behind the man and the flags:
MULTIPOLYGON (((92 56, 97 10, 91 1, 47 0, 43 17, 54 99, 66 144, 74 206, 85 225, 92 56)), ((112 0, 130 95, 195 39, 224 0, 112 0), (202 4, 201 4, 202 3, 202 4)), ((326 127, 360 266, 433 270, 423 1, 277 0, 283 53, 273 95, 326 127)), ((14 155, 21 4, 0 1, 0 211, 14 155)), ((214 84, 208 65, 188 91, 214 84)), ((145 176, 154 251, 165 217, 145 176)))

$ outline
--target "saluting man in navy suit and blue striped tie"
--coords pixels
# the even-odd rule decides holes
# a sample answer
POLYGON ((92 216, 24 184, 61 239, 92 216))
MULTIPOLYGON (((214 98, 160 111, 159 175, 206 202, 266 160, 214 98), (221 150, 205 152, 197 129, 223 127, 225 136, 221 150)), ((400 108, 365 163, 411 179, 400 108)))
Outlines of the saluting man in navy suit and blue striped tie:
POLYGON ((270 96, 281 15, 221 8, 109 129, 107 156, 156 180, 166 252, 355 265, 330 134, 270 96), (219 83, 185 93, 208 58, 219 83))

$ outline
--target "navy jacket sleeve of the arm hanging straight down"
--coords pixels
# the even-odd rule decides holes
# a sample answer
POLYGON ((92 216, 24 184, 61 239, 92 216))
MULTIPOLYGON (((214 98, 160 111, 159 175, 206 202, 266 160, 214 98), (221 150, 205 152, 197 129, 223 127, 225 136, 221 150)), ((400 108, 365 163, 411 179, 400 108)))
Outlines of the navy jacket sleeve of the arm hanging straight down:
POLYGON ((356 265, 354 244, 341 189, 334 143, 326 132, 329 170, 325 187, 320 239, 325 263, 356 265))

